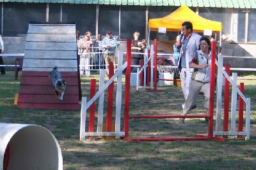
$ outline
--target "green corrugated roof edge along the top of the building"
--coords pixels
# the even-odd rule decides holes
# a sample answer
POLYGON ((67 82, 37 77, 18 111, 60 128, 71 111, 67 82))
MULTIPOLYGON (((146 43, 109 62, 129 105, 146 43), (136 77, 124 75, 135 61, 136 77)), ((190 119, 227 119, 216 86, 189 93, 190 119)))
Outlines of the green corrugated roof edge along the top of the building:
POLYGON ((216 8, 256 8, 256 0, 0 0, 4 3, 111 4, 140 6, 181 6, 216 8))

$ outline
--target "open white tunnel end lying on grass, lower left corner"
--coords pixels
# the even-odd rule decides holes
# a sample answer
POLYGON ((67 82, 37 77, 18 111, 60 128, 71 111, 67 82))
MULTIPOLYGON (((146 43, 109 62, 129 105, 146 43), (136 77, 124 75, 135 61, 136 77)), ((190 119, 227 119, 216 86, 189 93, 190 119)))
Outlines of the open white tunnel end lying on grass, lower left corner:
POLYGON ((0 123, 0 169, 6 165, 7 169, 63 169, 60 145, 42 126, 0 123))

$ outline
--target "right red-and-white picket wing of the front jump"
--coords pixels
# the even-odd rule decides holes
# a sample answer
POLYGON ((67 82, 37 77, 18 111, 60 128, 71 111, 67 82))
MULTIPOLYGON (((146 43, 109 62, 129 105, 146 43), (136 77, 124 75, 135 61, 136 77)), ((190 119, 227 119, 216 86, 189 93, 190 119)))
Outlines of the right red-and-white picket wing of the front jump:
POLYGON ((232 73, 232 78, 230 78, 230 65, 226 64, 225 69, 223 69, 223 55, 219 55, 218 61, 216 61, 216 65, 218 66, 218 87, 217 87, 217 101, 216 101, 216 131, 214 131, 214 136, 223 136, 223 138, 242 138, 245 136, 245 139, 250 139, 250 98, 244 97, 244 83, 240 83, 239 87, 237 87, 237 73, 232 73), (221 115, 221 105, 222 105, 222 84, 223 84, 223 76, 225 77, 224 82, 224 108, 223 115, 221 115), (231 104, 229 101, 229 89, 230 84, 232 85, 232 96, 231 96, 231 104), (239 94, 239 106, 237 113, 237 94, 239 94), (245 129, 243 131, 243 117, 244 117, 244 106, 246 104, 246 121, 245 121, 245 129), (229 105, 230 104, 230 105, 229 105), (230 130, 228 130, 228 120, 229 120, 229 106, 231 106, 231 115, 230 115, 230 130), (223 121, 221 118, 223 117, 223 121), (236 118, 238 117, 238 119, 236 118), (238 122, 238 125, 236 125, 238 122), (221 128, 221 123, 223 124, 223 128, 221 128), (236 130, 237 129, 237 130, 236 130))

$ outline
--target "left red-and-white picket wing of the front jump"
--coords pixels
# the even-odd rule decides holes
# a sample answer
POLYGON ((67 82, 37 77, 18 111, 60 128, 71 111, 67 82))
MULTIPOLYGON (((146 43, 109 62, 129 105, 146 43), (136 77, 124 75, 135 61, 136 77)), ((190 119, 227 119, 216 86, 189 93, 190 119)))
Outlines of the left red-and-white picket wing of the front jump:
MULTIPOLYGON (((131 39, 127 39, 127 61, 123 62, 124 52, 118 52, 118 69, 114 74, 113 62, 109 63, 109 80, 104 83, 105 69, 100 69, 100 81, 99 90, 95 92, 96 80, 91 80, 91 94, 90 101, 87 101, 87 97, 82 98, 81 106, 81 124, 80 124, 80 140, 86 137, 93 139, 94 136, 115 136, 115 138, 122 138, 125 134, 121 131, 121 110, 122 110, 122 72, 125 71, 125 103, 124 112, 129 114, 129 95, 130 95, 130 77, 131 77, 131 39), (115 115, 115 130, 113 131, 113 90, 114 80, 117 78, 116 83, 116 115, 115 115), (106 131, 103 132, 103 119, 104 119, 104 91, 108 89, 108 104, 106 113, 106 131), (98 120, 97 131, 95 131, 95 101, 99 98, 98 104, 98 120), (86 112, 90 108, 90 116, 88 123, 88 132, 86 132, 86 112)), ((125 126, 125 124, 124 124, 125 126)))

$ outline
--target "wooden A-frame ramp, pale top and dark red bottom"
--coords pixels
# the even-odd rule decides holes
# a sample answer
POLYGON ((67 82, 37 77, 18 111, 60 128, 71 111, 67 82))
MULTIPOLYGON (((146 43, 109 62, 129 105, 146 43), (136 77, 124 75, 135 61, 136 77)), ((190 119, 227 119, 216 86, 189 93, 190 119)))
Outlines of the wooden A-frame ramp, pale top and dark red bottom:
POLYGON ((17 108, 79 110, 80 92, 76 24, 29 23, 17 108), (67 83, 63 101, 49 78, 54 66, 67 83))

